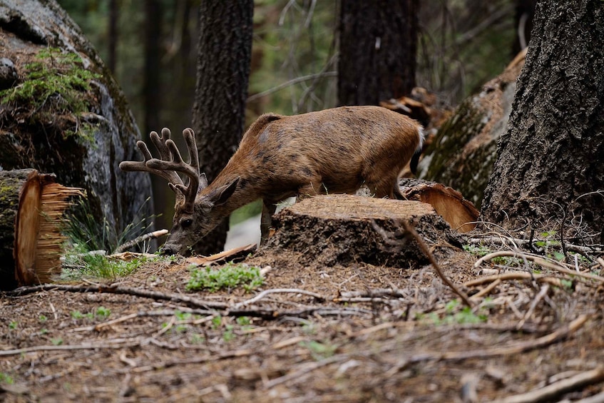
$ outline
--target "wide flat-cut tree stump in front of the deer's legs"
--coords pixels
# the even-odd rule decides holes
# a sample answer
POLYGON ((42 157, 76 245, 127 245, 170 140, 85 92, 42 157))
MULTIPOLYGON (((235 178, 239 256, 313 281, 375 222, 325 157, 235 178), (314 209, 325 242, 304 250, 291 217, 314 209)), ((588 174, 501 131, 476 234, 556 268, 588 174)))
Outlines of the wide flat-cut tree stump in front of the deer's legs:
POLYGON ((326 195, 307 198, 273 216, 275 234, 260 253, 289 250, 299 262, 365 262, 372 265, 416 267, 428 262, 414 239, 389 245, 384 233, 401 233, 401 221, 414 225, 426 243, 446 254, 460 247, 458 235, 426 203, 408 200, 326 195))

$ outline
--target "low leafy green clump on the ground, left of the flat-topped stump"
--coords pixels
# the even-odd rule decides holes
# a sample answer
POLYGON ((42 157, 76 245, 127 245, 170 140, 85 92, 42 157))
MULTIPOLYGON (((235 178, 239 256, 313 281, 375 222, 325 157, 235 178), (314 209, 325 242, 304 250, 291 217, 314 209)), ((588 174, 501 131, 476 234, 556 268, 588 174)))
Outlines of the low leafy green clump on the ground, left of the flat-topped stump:
POLYGON ((195 267, 191 270, 191 278, 187 283, 187 290, 232 290, 242 287, 246 291, 253 290, 262 285, 262 276, 258 267, 235 265, 227 263, 220 269, 211 267, 195 267))

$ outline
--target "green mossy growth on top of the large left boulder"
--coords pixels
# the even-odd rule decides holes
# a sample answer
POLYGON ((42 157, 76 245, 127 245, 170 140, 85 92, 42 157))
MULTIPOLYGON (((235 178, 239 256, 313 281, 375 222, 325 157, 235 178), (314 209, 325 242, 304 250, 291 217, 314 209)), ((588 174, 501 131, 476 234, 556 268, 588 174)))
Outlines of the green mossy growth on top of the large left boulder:
POLYGON ((29 111, 29 123, 75 120, 76 129, 63 129, 63 138, 78 136, 91 141, 92 125, 81 122, 80 116, 91 108, 90 83, 101 76, 83 68, 75 53, 48 48, 39 51, 36 61, 24 66, 23 81, 13 88, 0 91, 0 103, 10 108, 29 111))

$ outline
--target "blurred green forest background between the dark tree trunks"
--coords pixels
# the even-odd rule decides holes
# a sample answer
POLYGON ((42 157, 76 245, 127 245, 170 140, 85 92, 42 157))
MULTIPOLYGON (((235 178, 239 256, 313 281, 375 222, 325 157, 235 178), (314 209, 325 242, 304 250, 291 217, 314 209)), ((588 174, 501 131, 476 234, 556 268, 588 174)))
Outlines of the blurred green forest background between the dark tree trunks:
MULTIPOLYGON (((142 136, 191 126, 200 1, 58 0, 113 71, 142 136)), ((535 1, 417 3, 415 82, 452 108, 521 50, 518 23, 531 21, 535 1)), ((255 1, 246 127, 269 111, 337 106, 339 7, 338 0, 255 1)), ((158 226, 169 228, 171 202, 159 204, 167 209, 158 226)))

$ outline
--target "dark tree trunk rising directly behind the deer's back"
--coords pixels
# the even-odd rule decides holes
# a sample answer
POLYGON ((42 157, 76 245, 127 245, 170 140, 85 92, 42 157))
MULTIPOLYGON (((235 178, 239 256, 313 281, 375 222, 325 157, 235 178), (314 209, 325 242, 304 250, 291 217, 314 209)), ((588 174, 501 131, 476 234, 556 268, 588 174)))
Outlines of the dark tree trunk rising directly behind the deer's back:
POLYGON ((338 103, 378 105, 415 86, 419 1, 342 0, 338 103))

